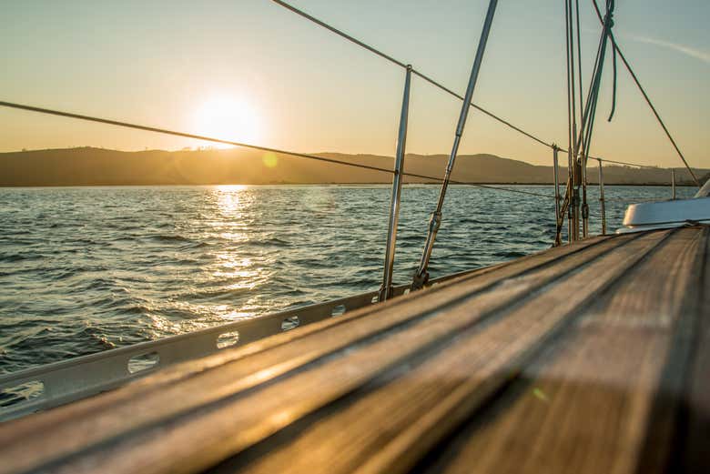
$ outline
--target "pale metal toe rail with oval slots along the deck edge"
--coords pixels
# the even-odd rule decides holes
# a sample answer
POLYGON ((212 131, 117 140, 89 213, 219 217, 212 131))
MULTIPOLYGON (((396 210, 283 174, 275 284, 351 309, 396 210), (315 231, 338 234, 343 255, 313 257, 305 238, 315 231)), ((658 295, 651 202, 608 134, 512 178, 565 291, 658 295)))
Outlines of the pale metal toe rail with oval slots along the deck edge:
MULTIPOLYGON (((432 283, 475 271, 437 278, 432 283)), ((393 287, 392 294, 396 297, 408 291, 408 285, 401 285, 393 287)), ((370 291, 5 374, 0 376, 0 421, 96 395, 157 368, 243 346, 377 302, 378 291, 370 291)))

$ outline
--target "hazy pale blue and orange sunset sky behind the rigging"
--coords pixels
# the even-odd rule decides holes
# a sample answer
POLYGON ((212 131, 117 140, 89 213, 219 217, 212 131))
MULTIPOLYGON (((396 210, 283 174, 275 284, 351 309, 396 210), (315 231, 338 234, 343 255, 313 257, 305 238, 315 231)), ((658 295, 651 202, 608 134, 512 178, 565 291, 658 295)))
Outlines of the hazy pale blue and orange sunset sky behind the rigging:
MULTIPOLYGON (((580 1, 588 83, 600 25, 580 1)), ((462 92, 488 2, 293 4, 462 92)), ((617 4, 625 54, 691 165, 710 167, 710 2, 617 4)), ((501 0, 473 100, 566 146, 563 13, 562 0, 501 0)), ((0 17, 0 100, 297 151, 394 153, 403 70, 269 0, 2 0, 0 17)), ((593 154, 680 166, 622 67, 611 124, 604 76, 593 154)), ((459 107, 415 79, 407 151, 448 153, 459 107)), ((207 144, 0 109, 0 151, 196 145, 207 144)), ((548 148, 475 110, 461 152, 551 162, 548 148)))

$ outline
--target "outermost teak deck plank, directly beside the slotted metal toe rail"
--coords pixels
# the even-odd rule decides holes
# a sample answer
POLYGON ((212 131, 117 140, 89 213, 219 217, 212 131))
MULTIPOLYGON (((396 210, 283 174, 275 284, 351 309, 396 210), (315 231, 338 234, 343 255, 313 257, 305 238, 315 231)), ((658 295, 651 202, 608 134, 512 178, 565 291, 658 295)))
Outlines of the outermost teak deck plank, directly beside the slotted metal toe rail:
POLYGON ((200 368, 204 368, 202 370, 196 371, 192 364, 188 364, 187 368, 173 368, 167 371, 167 375, 158 374, 101 397, 57 408, 39 417, 18 420, 6 429, 0 429, 2 453, 6 459, 12 459, 0 465, 0 472, 39 465, 71 454, 76 449, 86 449, 139 429, 152 420, 233 396, 240 390, 268 382, 335 350, 347 348, 362 338, 377 335, 412 318, 420 318, 427 311, 441 308, 457 298, 470 297, 507 277, 547 266, 565 256, 573 258, 573 262, 583 262, 598 252, 621 245, 623 240, 605 244, 604 239, 597 239, 587 245, 537 254, 499 267, 494 273, 482 272, 475 277, 463 277, 455 284, 447 282, 409 298, 395 299, 380 308, 367 308, 350 316, 299 329, 300 337, 291 336, 299 334, 299 331, 291 331, 290 334, 272 338, 279 339, 276 345, 265 341, 260 345, 263 347, 261 350, 235 349, 234 354, 208 358, 207 362, 198 363, 200 368), (593 245, 597 243, 598 246, 593 245), (587 247, 592 253, 582 254, 581 251, 587 247), (385 308, 388 310, 384 311, 385 308), (381 313, 382 318, 364 318, 373 311, 381 313), (358 324, 353 326, 353 321, 358 321, 358 324), (316 337, 318 341, 311 340, 316 337), (286 339, 289 344, 281 339, 286 339), (256 358, 257 355, 259 358, 256 358), (186 370, 189 377, 179 377, 182 370, 186 370), (42 432, 43 436, 30 447, 22 435, 33 432, 42 432))

